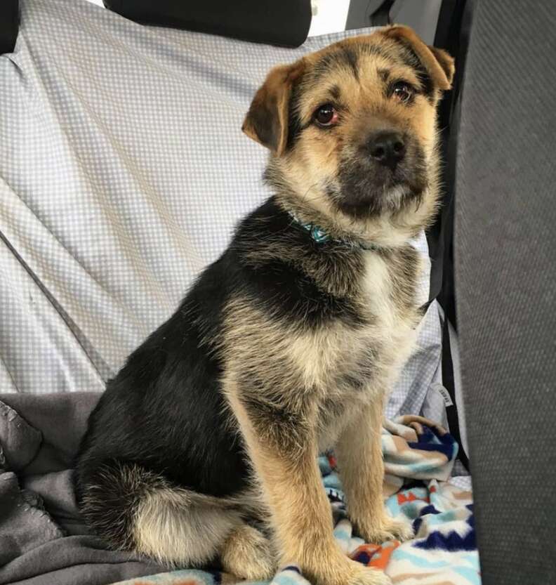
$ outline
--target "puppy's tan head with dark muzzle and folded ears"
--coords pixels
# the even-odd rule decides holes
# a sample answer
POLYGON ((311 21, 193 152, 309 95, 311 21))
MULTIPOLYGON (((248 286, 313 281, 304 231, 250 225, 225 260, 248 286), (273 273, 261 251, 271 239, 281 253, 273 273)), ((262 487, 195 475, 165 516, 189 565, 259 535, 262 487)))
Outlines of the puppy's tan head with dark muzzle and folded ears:
POLYGON ((270 149, 266 178, 296 209, 395 245, 435 211, 436 106, 453 76, 408 27, 380 29, 275 67, 243 130, 270 149))

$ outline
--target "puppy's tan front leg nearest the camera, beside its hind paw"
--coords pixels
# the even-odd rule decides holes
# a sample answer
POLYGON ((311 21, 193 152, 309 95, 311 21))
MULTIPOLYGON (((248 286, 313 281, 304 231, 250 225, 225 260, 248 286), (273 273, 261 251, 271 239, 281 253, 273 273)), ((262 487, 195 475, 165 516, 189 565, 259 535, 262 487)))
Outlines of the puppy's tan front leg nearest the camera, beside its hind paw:
POLYGON ((317 585, 390 584, 383 572, 350 560, 333 539, 307 409, 291 412, 237 391, 228 397, 270 509, 278 564, 298 565, 317 585))

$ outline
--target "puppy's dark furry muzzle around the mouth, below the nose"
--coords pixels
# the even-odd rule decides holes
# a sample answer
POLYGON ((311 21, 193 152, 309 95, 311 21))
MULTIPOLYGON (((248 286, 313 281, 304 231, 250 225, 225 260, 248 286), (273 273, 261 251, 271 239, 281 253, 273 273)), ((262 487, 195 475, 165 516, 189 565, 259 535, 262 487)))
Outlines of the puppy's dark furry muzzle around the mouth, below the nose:
POLYGON ((350 216, 378 216, 419 204, 428 188, 427 177, 419 152, 394 169, 351 158, 340 163, 338 176, 327 183, 326 193, 337 209, 350 216))

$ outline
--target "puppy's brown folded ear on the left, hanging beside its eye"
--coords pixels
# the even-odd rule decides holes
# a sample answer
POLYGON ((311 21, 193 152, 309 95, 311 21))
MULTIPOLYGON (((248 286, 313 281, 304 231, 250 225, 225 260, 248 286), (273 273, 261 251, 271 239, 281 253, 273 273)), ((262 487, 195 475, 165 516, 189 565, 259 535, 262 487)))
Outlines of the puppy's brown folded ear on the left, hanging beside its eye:
POLYGON ((258 89, 241 130, 249 138, 280 156, 288 143, 288 115, 291 89, 303 72, 303 60, 278 65, 270 70, 258 89))

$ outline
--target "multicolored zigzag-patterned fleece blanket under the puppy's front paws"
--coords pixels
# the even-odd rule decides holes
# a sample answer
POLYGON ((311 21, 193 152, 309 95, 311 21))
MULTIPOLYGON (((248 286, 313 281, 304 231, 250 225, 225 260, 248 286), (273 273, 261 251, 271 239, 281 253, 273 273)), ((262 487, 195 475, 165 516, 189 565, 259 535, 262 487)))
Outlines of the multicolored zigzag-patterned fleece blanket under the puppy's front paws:
MULTIPOLYGON (((353 533, 333 454, 319 458, 335 523, 334 536, 351 558, 386 572, 396 585, 480 585, 470 478, 451 478, 457 444, 420 416, 385 421, 384 493, 392 515, 413 521, 415 538, 366 544, 353 533)), ((117 585, 232 585, 232 575, 177 570, 117 585)), ((248 584, 243 584, 248 585, 248 584)), ((249 585, 266 585, 261 582, 249 585)), ((280 570, 270 585, 310 585, 298 567, 280 570)))

